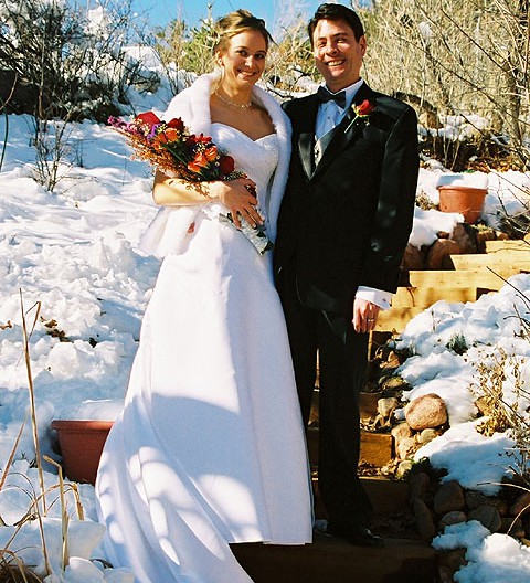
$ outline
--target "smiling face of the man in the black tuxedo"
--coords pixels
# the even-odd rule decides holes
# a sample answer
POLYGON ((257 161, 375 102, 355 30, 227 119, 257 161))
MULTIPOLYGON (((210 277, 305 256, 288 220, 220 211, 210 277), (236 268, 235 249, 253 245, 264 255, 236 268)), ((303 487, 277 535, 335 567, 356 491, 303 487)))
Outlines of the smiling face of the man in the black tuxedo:
POLYGON ((332 92, 348 87, 360 78, 367 40, 356 39, 343 20, 320 20, 312 33, 316 65, 332 92))

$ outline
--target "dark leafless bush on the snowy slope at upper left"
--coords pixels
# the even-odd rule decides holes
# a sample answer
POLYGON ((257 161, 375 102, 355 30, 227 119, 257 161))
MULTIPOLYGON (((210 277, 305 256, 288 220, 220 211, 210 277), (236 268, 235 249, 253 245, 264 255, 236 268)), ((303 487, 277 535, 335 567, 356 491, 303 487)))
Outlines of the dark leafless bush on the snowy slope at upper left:
POLYGON ((50 191, 67 171, 70 123, 119 115, 138 81, 125 51, 129 19, 130 2, 91 13, 75 2, 0 0, 0 98, 6 113, 34 116, 34 176, 50 191))

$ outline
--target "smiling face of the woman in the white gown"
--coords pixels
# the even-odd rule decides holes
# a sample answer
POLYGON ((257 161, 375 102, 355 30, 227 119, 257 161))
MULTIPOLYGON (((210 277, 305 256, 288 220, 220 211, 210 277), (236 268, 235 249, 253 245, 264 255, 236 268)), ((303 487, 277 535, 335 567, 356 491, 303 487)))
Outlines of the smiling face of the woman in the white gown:
POLYGON ((229 45, 218 53, 223 85, 233 91, 254 85, 263 74, 266 55, 267 44, 261 32, 247 30, 232 36, 229 45))

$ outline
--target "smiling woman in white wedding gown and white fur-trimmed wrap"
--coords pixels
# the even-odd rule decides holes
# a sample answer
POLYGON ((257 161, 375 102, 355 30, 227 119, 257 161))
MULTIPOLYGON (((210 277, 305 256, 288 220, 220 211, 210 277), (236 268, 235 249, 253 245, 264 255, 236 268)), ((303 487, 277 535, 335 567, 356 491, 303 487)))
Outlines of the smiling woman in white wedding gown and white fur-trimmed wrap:
POLYGON ((269 34, 237 10, 218 22, 220 74, 177 95, 181 117, 248 178, 192 183, 157 172, 146 247, 163 256, 123 414, 99 465, 98 516, 114 566, 140 583, 248 583, 230 544, 311 541, 304 428, 269 240, 287 178, 290 128, 255 86, 269 34), (221 220, 230 211, 236 224, 221 220))

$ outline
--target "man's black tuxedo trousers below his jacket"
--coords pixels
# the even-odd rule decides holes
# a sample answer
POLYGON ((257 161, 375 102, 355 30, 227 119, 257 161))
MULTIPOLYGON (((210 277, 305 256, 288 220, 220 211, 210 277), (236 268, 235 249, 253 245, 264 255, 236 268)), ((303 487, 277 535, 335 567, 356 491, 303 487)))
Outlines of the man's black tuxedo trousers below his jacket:
POLYGON ((368 333, 357 333, 351 318, 305 307, 296 279, 282 271, 277 288, 284 307, 298 398, 307 427, 319 361, 318 489, 330 523, 368 526, 370 499, 358 476, 359 392, 368 360, 368 333))

